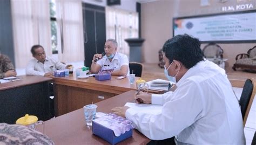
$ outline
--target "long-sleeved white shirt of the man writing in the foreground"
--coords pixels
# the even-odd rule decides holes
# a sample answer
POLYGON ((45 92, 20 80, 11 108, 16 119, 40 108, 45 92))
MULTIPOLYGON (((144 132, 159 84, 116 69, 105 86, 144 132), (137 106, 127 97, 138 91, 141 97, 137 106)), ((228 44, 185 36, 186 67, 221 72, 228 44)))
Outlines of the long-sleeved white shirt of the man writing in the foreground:
POLYGON ((200 61, 177 83, 174 92, 152 95, 163 105, 152 115, 127 109, 126 118, 152 140, 176 136, 177 144, 245 144, 241 110, 225 71, 200 61))

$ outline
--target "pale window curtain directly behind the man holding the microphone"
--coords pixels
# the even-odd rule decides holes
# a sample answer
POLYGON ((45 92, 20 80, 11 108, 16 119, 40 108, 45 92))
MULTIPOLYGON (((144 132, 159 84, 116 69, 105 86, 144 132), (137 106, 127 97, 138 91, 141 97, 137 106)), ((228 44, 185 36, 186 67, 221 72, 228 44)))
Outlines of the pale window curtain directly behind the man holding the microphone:
POLYGON ((106 38, 116 38, 118 51, 129 56, 124 39, 138 38, 138 13, 106 7, 106 38))

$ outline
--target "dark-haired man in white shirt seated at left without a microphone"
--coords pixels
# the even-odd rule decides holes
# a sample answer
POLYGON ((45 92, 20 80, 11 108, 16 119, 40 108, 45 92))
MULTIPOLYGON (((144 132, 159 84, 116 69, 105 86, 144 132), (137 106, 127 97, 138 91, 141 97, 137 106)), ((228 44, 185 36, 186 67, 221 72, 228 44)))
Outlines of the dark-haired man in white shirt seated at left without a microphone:
POLYGON ((33 45, 31 47, 31 53, 34 58, 31 59, 28 66, 26 66, 27 75, 42 75, 44 77, 52 77, 53 71, 64 70, 70 66, 60 63, 59 60, 46 57, 44 48, 41 45, 33 45))

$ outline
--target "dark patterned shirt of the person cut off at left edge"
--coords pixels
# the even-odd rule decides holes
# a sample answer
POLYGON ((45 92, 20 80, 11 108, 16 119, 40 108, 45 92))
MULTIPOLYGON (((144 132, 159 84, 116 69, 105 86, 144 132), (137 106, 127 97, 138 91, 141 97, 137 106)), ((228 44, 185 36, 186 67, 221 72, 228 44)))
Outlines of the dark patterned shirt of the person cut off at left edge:
POLYGON ((9 70, 15 70, 14 65, 11 63, 9 57, 0 54, 0 79, 4 78, 4 73, 9 70))

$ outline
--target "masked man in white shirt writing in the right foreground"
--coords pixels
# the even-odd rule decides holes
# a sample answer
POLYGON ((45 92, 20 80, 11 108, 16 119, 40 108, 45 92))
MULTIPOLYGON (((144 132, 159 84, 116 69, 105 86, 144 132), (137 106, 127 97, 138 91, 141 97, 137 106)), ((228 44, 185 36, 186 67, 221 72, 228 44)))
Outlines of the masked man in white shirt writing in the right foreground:
POLYGON ((135 99, 163 105, 157 115, 129 107, 112 111, 132 120, 151 140, 175 136, 176 144, 245 144, 241 110, 225 70, 204 60, 196 38, 178 35, 163 46, 166 70, 177 88, 162 95, 140 92, 135 99))

